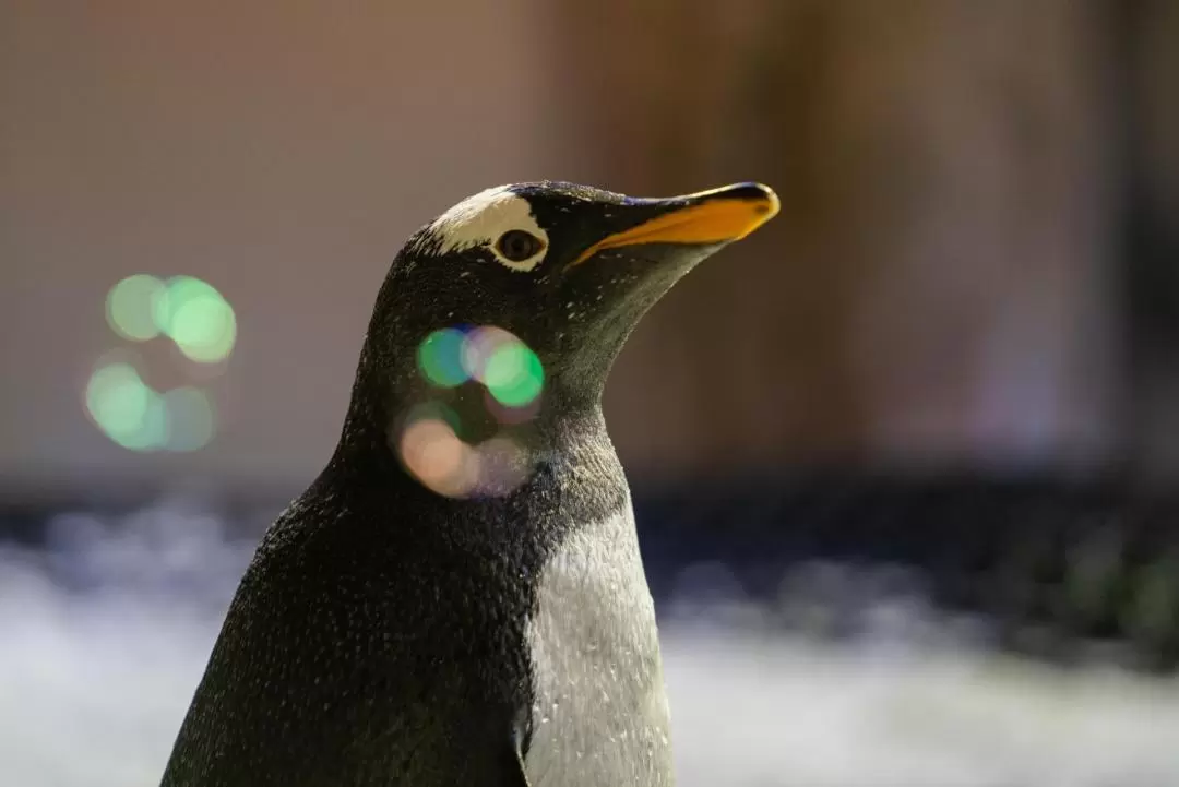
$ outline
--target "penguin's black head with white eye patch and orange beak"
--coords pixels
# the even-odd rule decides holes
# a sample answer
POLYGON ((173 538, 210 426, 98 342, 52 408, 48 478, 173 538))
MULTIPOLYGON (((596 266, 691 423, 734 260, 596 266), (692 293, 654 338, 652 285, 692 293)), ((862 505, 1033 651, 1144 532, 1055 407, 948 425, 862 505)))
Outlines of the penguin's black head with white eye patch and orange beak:
POLYGON ((643 315, 777 211, 773 191, 755 183, 665 199, 553 181, 489 189, 406 243, 365 355, 403 396, 420 382, 430 336, 493 326, 534 353, 546 399, 595 403, 643 315))

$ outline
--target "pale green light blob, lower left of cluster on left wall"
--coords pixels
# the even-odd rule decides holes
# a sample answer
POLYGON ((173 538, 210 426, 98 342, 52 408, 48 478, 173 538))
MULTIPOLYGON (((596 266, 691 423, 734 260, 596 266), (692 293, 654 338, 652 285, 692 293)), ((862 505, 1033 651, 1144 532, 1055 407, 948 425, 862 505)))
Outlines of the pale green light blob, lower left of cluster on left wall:
POLYGON ((94 371, 86 386, 86 410, 123 448, 157 450, 167 439, 164 401, 131 364, 113 363, 94 371))

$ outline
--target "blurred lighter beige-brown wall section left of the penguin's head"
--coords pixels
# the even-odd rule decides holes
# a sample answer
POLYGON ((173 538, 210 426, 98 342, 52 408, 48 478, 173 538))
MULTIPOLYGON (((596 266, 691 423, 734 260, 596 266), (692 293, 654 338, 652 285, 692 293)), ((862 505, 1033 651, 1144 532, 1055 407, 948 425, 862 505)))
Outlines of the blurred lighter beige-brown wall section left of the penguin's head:
MULTIPOLYGON (((561 160, 533 11, 4 4, 0 477, 316 472, 406 236, 561 160), (198 276, 237 311, 204 451, 133 454, 86 418, 93 364, 124 344, 106 292, 136 272, 198 276)), ((140 356, 159 389, 199 375, 163 340, 140 356)))

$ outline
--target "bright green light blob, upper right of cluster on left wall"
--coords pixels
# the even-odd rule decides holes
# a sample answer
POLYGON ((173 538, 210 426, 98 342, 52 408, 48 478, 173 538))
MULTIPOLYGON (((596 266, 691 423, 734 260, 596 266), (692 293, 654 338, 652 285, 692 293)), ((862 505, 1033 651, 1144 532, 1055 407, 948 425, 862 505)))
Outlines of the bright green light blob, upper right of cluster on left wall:
POLYGON ((191 276, 169 279, 153 302, 152 315, 157 328, 192 361, 217 363, 233 351, 237 317, 208 282, 191 276))

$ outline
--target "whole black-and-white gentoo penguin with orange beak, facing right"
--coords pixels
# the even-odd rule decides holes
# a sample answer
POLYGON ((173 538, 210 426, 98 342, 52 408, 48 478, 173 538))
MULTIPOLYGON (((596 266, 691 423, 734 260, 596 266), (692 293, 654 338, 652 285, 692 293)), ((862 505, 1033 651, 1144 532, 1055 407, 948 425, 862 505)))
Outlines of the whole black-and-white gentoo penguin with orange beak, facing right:
POLYGON ((413 234, 337 448, 258 545, 163 787, 671 785, 601 392, 639 318, 777 211, 759 184, 546 181, 413 234))

